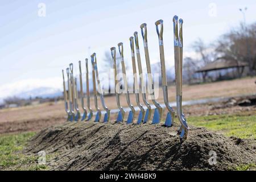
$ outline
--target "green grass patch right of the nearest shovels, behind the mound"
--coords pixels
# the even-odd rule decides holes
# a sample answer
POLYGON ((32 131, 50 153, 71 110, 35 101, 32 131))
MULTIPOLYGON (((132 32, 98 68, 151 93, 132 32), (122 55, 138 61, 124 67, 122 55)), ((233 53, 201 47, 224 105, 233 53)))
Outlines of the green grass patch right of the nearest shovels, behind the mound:
POLYGON ((256 139, 256 115, 208 115, 189 117, 188 122, 194 126, 206 127, 220 131, 227 137, 256 139))

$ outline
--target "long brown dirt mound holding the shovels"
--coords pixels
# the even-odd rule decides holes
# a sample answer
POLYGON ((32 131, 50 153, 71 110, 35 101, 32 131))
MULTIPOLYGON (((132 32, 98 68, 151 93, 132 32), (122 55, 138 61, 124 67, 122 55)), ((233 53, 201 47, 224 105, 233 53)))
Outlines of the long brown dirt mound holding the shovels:
POLYGON ((58 170, 222 170, 256 162, 255 140, 192 127, 188 139, 180 143, 177 129, 177 123, 173 127, 65 123, 40 131, 25 152, 55 154, 47 165, 58 170), (217 163, 210 165, 214 156, 209 153, 214 152, 217 163))

